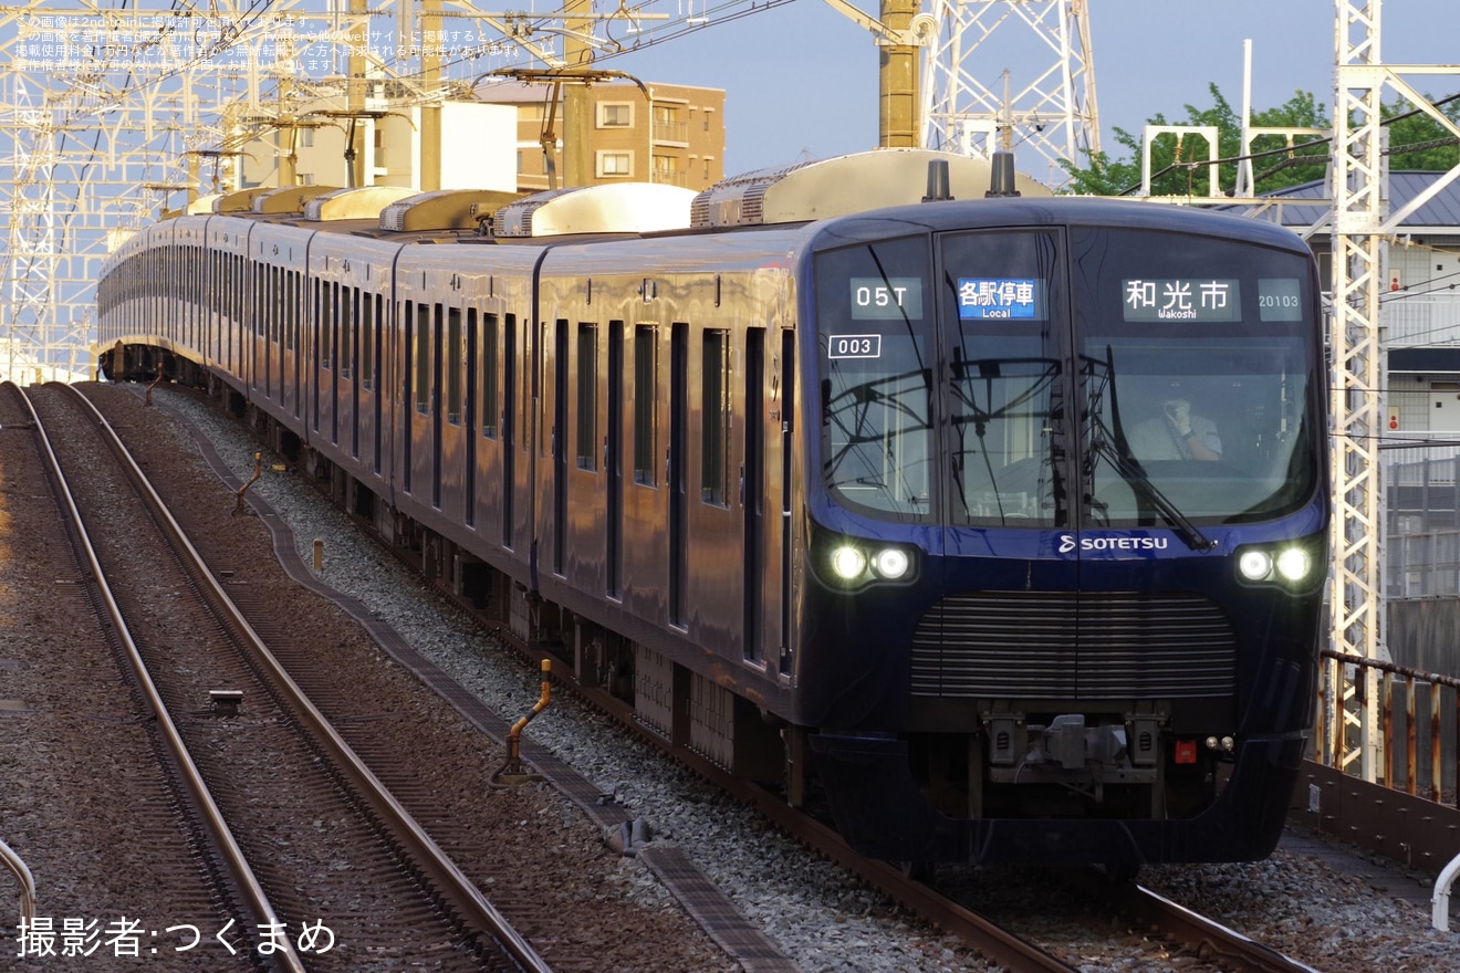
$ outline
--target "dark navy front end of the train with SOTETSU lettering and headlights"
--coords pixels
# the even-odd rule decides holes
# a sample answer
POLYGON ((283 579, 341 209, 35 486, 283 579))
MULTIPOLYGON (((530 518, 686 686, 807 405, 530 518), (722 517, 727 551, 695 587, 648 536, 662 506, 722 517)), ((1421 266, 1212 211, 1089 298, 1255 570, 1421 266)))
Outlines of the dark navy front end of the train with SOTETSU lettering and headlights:
POLYGON ((797 686, 838 829, 910 862, 1270 853, 1326 575, 1307 248, 983 200, 828 223, 809 261, 797 686))

